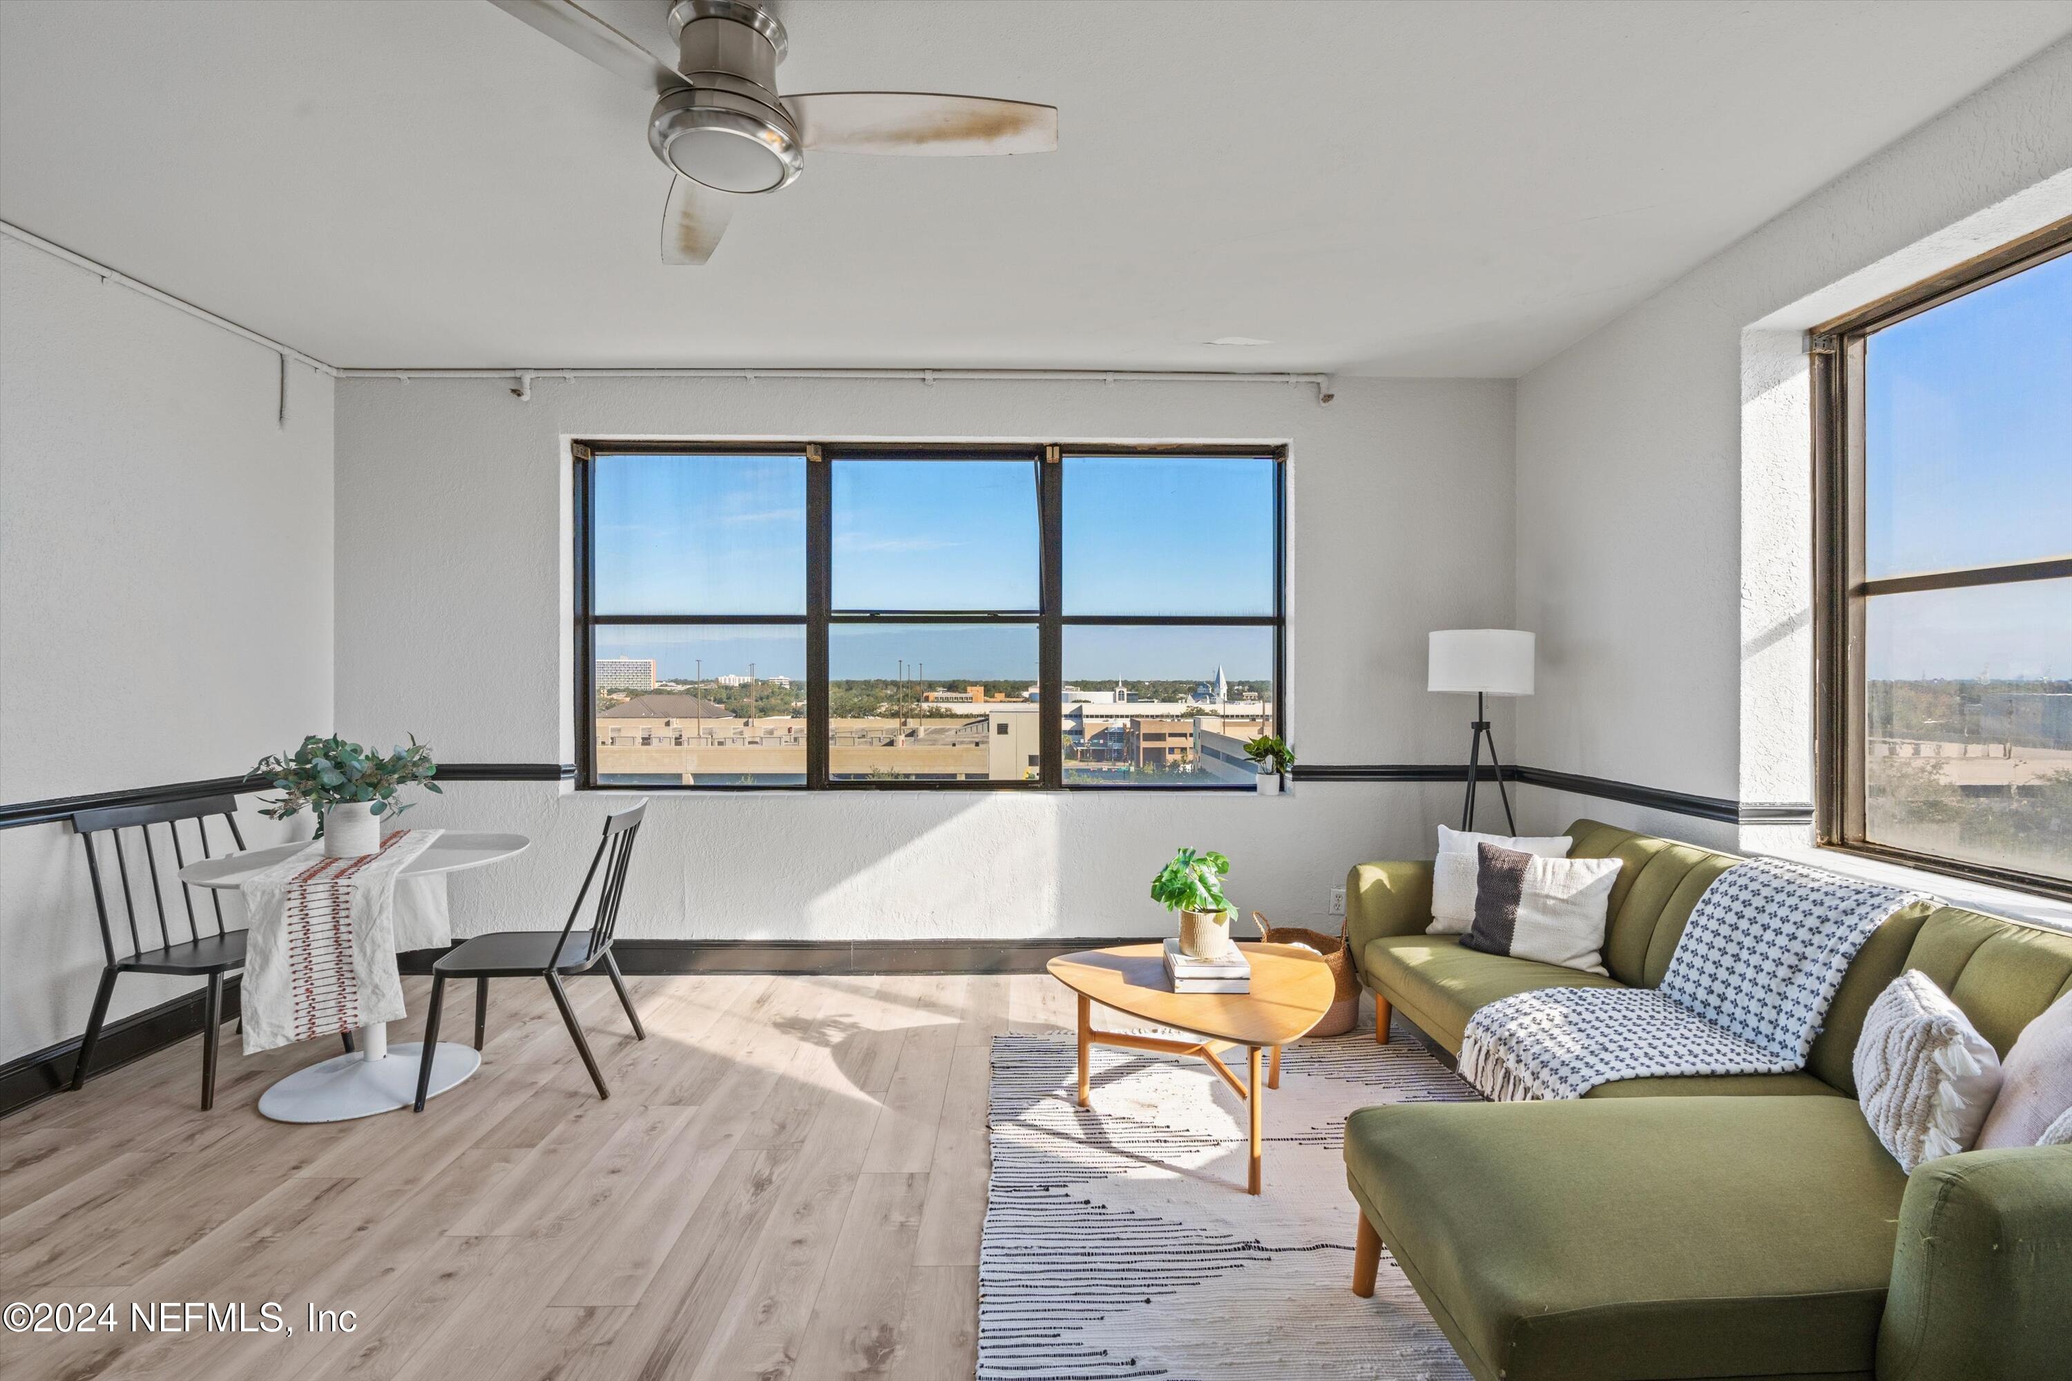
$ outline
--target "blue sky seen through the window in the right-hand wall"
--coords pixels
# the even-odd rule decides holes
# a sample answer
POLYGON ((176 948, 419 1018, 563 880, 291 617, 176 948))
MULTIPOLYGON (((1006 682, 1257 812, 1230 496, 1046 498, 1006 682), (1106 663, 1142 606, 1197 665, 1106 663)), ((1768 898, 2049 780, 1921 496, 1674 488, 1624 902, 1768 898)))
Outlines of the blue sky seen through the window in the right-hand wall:
MULTIPOLYGON (((2072 553, 2072 255, 1871 335, 1871 578, 2072 553)), ((2072 580, 1869 600, 1871 679, 2072 677, 2072 580)))

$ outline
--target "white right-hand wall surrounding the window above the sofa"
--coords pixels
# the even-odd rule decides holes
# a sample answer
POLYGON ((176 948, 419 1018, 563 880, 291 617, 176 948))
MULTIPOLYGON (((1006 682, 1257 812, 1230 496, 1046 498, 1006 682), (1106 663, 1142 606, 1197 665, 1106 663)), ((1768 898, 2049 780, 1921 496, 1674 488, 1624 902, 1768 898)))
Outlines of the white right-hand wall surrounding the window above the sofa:
MULTIPOLYGON (((1811 799, 1801 331, 2072 213, 2072 41, 1912 130, 1519 379, 1519 760, 1811 799)), ((1805 841, 1533 791, 1720 847, 1805 841)))

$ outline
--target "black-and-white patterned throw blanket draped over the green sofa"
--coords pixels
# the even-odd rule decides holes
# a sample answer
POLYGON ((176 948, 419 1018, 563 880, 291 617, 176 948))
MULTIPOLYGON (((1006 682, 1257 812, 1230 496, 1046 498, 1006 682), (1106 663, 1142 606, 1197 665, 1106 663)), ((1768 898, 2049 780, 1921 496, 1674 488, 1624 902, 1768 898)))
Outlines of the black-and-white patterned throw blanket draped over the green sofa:
POLYGON ((1583 1097, 1600 1083, 1805 1068, 1863 942, 1921 892, 1755 859, 1691 911, 1662 988, 1544 988, 1477 1010, 1461 1077, 1494 1099, 1583 1097))

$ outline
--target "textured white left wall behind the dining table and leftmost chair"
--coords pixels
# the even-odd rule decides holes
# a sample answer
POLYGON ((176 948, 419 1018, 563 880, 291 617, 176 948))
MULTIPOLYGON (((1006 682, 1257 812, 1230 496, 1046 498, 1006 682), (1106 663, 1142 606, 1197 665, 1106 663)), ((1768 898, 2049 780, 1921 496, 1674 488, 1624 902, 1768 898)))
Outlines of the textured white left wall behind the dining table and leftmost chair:
MULTIPOLYGON (((0 238, 0 801, 242 770, 332 716, 332 381, 0 238)), ((247 839, 271 822, 244 810, 247 839)), ((68 824, 0 830, 0 1062, 79 1035, 68 824)), ((126 977, 114 1017, 180 992, 126 977)))

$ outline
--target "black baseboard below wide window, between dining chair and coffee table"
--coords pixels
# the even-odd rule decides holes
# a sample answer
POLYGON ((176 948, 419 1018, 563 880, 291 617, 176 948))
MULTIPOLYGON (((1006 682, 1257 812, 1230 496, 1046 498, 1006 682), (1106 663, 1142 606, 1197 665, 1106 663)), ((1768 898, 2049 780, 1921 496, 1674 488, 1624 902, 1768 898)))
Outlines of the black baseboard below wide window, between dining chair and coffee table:
POLYGON ((1080 940, 617 940, 624 973, 1042 973, 1073 950, 1150 944, 1080 940))

